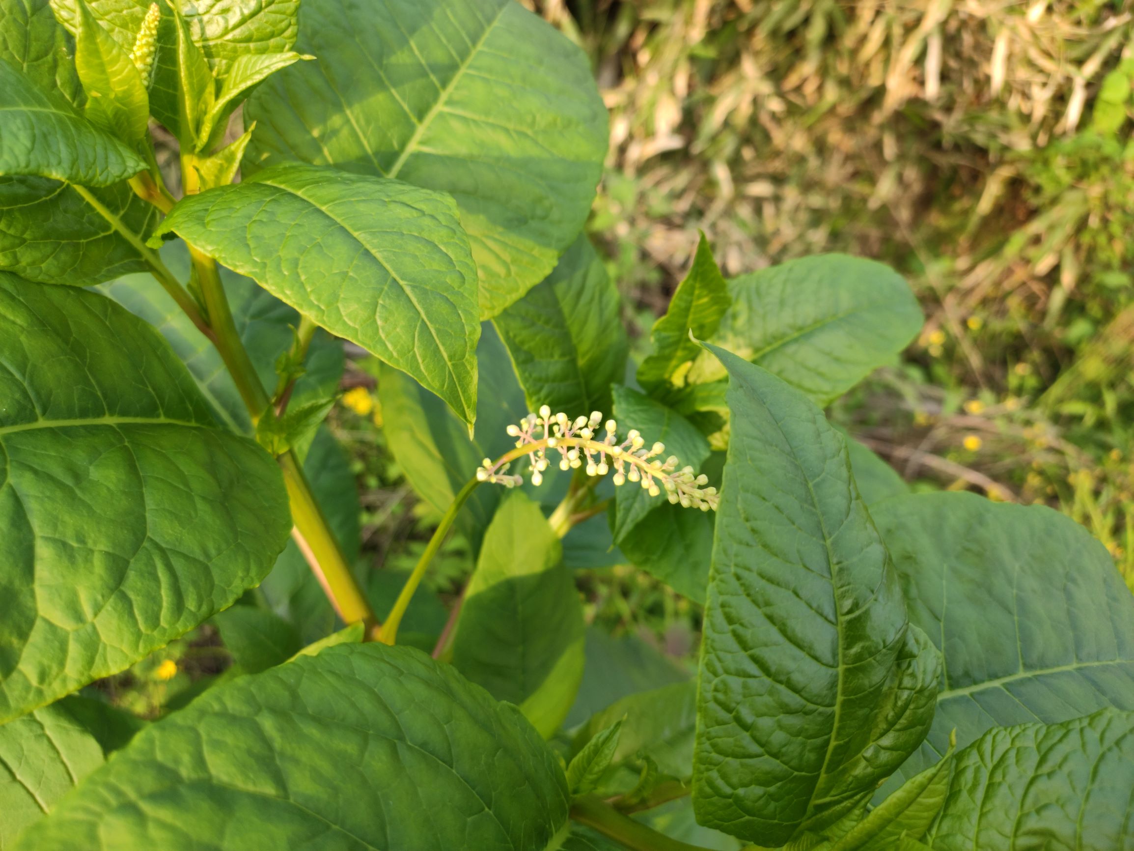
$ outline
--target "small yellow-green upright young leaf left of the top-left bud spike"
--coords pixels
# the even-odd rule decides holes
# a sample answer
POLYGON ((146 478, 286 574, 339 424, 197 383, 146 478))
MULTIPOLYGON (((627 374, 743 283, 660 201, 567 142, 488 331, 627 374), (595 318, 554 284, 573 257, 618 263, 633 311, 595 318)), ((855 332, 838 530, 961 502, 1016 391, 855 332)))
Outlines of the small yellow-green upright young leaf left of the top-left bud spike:
POLYGON ((86 93, 86 117, 137 149, 150 121, 150 95, 130 54, 102 28, 84 0, 75 37, 75 69, 86 93))

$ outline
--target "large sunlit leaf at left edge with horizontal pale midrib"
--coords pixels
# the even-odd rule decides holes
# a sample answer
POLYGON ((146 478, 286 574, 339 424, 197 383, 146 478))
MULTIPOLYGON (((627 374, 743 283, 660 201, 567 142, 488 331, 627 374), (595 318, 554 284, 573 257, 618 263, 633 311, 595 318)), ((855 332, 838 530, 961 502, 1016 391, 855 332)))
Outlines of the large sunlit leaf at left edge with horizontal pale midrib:
POLYGON ((290 529, 278 467, 211 428, 161 337, 109 298, 0 276, 0 719, 230 605, 290 529))

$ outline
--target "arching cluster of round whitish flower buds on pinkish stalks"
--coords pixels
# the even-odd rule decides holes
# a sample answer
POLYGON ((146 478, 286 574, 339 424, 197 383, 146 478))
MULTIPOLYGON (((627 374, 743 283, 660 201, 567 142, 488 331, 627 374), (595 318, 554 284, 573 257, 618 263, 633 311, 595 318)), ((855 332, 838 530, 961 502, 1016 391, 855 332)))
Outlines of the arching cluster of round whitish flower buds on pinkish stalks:
MULTIPOLYGON (((720 495, 717 488, 705 487, 708 477, 696 475, 691 466, 678 469, 680 462, 672 455, 662 461, 665 445, 655 443, 648 447, 637 429, 631 429, 621 441, 616 436, 617 430, 618 423, 603 422, 599 411, 572 420, 564 413, 552 415, 551 408, 543 405, 539 414, 528 414, 518 426, 509 426, 508 435, 516 438, 517 449, 527 449, 523 455, 531 462, 532 485, 543 481, 543 471, 551 463, 548 461, 551 450, 552 458, 556 453, 559 455, 560 470, 582 467, 587 475, 606 475, 613 470, 615 485, 637 482, 650 496, 660 496, 665 490, 670 503, 686 508, 705 512, 717 508, 720 495), (604 432, 601 439, 600 431, 604 432)), ((509 473, 510 465, 510 461, 484 458, 476 478, 514 488, 524 479, 509 473)))

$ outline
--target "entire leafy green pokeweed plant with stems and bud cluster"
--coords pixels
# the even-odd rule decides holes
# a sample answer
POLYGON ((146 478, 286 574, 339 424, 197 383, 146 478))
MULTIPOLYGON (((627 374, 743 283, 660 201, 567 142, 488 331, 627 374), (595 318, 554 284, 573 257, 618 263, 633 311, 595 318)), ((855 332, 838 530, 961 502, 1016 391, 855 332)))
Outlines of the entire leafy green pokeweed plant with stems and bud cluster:
POLYGON ((880 264, 725 280, 702 239, 632 376, 602 102, 518 3, 0 0, 0 848, 1134 841, 1106 550, 827 422, 921 325, 880 264), (441 515, 406 576, 354 567, 332 335, 441 515), (573 571, 618 563, 704 606, 695 679, 586 626, 573 571), (187 705, 76 693, 206 618, 234 666, 187 705))

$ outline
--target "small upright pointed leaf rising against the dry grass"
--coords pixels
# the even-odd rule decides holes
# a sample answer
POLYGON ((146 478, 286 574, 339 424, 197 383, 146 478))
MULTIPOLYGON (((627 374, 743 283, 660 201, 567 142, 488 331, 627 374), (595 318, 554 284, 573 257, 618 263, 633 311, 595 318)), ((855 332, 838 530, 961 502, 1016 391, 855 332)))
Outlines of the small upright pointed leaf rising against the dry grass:
POLYGON ((697 339, 712 337, 728 306, 728 285, 717 268, 709 241, 702 234, 693 266, 677 285, 666 314, 653 323, 650 331, 653 353, 642 361, 637 372, 642 387, 655 393, 667 385, 684 386, 685 373, 702 354, 700 346, 689 339, 689 332, 697 339))

